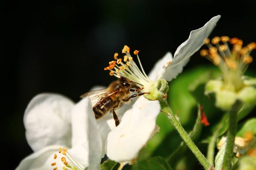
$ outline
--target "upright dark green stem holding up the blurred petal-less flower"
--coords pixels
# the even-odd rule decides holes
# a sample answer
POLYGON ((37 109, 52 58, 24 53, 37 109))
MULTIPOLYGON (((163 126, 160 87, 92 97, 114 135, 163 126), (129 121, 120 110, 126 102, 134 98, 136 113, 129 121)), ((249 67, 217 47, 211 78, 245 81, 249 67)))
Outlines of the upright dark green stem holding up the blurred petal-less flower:
POLYGON ((228 112, 228 136, 227 136, 227 147, 223 159, 224 170, 231 167, 231 159, 233 156, 234 142, 236 137, 236 128, 237 128, 237 113, 241 108, 242 103, 236 101, 232 109, 228 112))

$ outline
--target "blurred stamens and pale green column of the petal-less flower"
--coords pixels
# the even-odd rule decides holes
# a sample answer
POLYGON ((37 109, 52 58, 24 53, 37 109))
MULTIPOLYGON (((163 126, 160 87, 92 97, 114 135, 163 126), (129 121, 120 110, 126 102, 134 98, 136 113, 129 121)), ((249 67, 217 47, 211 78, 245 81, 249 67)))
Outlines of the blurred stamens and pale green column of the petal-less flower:
POLYGON ((214 37, 211 43, 210 39, 206 39, 205 45, 209 49, 201 50, 200 55, 220 68, 223 73, 223 88, 231 91, 242 89, 244 87, 242 75, 253 60, 250 53, 256 48, 256 43, 252 42, 243 47, 241 39, 222 36, 214 37), (220 42, 222 43, 220 44, 220 42), (231 50, 228 42, 233 45, 231 50))

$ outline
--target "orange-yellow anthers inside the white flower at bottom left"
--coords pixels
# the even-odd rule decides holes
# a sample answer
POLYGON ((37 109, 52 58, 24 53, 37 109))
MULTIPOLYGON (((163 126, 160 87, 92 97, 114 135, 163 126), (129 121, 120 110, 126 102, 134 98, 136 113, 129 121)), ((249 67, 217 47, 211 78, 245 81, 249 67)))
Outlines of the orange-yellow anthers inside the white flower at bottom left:
MULTIPOLYGON (((68 155, 67 155, 68 152, 67 152, 66 148, 63 148, 63 149, 59 148, 59 153, 68 157, 68 155)), ((77 169, 76 166, 72 162, 70 162, 70 165, 69 165, 68 161, 66 160, 66 157, 64 157, 64 156, 60 158, 61 162, 65 165, 62 167, 62 169, 63 170, 74 169, 74 168, 77 169)), ((57 154, 54 154, 53 159, 54 160, 57 159, 57 154)), ((51 166, 56 166, 56 162, 53 162, 51 164, 51 166)), ((57 170, 57 169, 58 169, 57 166, 53 168, 53 170, 57 170)))

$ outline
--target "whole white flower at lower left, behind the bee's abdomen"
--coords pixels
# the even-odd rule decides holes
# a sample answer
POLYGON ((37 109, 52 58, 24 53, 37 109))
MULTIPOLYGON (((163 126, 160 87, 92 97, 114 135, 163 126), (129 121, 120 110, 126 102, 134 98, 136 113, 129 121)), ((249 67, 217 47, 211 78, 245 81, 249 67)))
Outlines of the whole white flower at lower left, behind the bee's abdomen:
POLYGON ((99 169, 102 143, 89 98, 74 106, 66 97, 40 94, 28 104, 24 124, 34 153, 17 170, 99 169))

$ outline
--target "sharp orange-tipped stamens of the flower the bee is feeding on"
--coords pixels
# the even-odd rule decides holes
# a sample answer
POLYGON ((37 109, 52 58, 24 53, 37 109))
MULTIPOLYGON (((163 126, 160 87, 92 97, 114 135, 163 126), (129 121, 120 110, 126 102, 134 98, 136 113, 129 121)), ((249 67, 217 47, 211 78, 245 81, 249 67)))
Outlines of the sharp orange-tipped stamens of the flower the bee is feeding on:
POLYGON ((111 76, 114 75, 117 78, 125 77, 131 81, 141 84, 144 87, 143 91, 148 92, 150 87, 154 84, 154 81, 150 80, 145 73, 141 65, 140 58, 138 56, 139 51, 135 50, 133 53, 134 55, 137 55, 141 71, 136 63, 133 61, 133 58, 130 54, 130 48, 128 46, 124 46, 122 53, 125 54, 123 60, 121 58, 118 58, 118 53, 115 53, 114 59, 116 61, 110 61, 109 66, 105 67, 104 70, 110 70, 109 74, 111 76))

